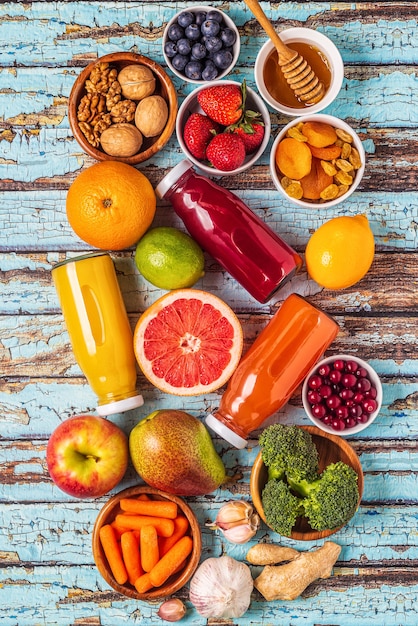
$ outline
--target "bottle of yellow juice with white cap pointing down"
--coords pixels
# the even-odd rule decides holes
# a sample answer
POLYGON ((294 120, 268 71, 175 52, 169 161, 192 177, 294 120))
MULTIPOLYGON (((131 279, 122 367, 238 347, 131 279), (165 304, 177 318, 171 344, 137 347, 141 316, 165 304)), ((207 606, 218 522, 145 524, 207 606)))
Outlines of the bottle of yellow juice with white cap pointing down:
POLYGON ((105 416, 143 404, 132 330, 109 254, 93 252, 52 270, 74 356, 105 416))

